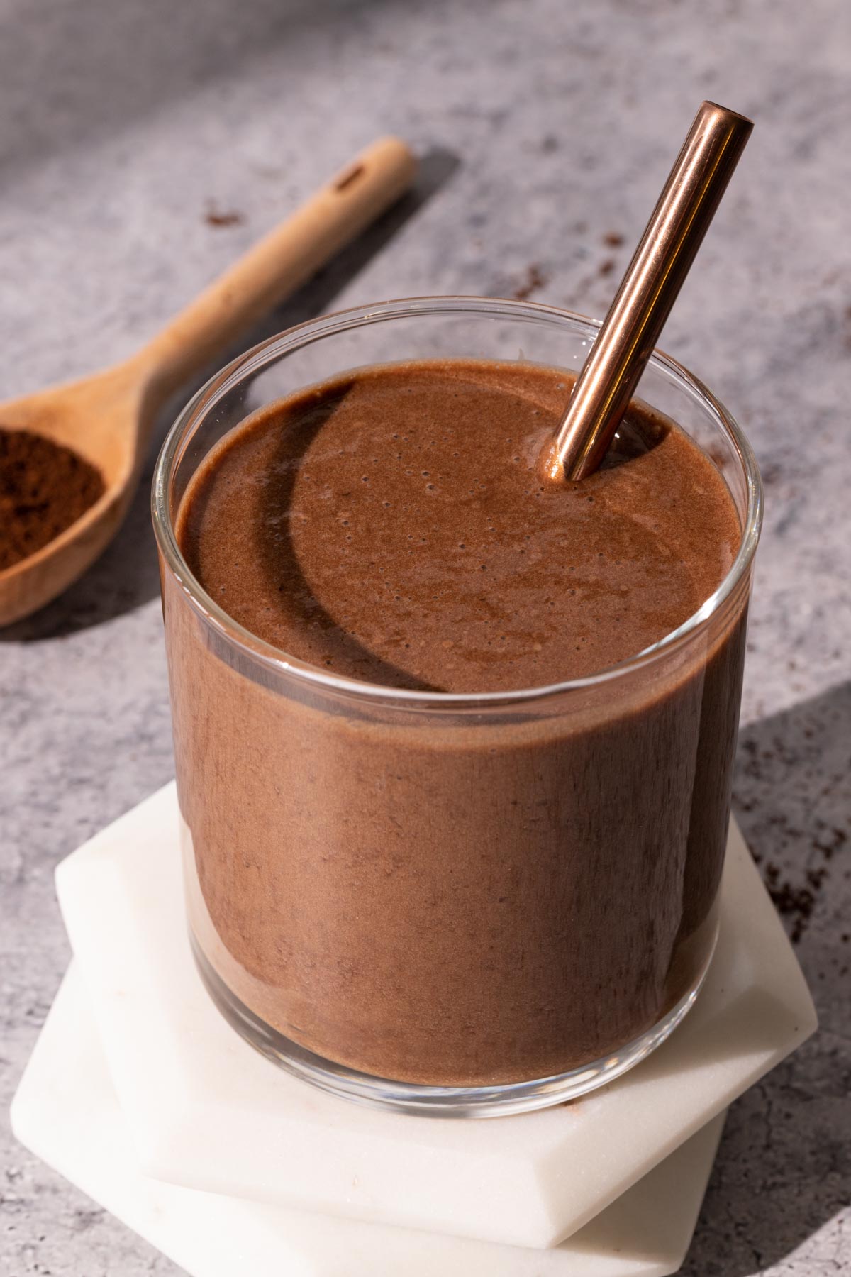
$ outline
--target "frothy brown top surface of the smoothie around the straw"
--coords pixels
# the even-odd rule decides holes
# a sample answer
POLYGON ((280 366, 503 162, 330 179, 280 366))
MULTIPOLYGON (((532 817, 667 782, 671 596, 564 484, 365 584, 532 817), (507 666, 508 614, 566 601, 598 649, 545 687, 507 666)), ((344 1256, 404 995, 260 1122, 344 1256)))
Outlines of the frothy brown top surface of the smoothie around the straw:
POLYGON ((194 480, 180 539, 246 630, 388 687, 545 686, 688 619, 735 558, 722 479, 634 407, 606 469, 545 487, 565 374, 385 365, 256 414, 194 480))

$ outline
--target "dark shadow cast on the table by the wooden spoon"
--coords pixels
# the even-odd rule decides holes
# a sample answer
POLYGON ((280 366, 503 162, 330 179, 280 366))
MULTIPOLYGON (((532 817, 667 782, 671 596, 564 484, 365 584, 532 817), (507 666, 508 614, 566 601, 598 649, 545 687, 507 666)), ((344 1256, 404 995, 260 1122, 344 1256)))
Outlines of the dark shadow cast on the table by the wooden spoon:
POLYGON ((332 309, 334 298, 452 178, 458 165, 457 156, 450 151, 434 149, 425 155, 420 161, 415 185, 393 208, 166 405, 157 419, 139 490, 112 544, 59 599, 26 621, 0 631, 0 641, 27 642, 75 633, 133 612, 159 594, 159 571, 151 526, 151 480, 159 446, 180 409, 216 368, 256 342, 332 309))

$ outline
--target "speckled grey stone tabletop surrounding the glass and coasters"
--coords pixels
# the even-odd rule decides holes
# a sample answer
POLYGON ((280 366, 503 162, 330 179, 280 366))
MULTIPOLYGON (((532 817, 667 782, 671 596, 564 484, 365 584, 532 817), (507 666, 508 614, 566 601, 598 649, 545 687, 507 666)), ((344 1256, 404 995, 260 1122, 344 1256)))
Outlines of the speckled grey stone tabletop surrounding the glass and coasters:
MULTIPOLYGON (((851 1271, 851 6, 0 0, 1 392, 128 355, 387 130, 427 155, 418 193, 267 331, 417 292, 602 314, 703 97, 757 129, 662 345, 766 478, 735 805, 822 1028, 734 1107, 684 1272, 827 1277, 851 1271)), ((5 1120, 68 960, 54 866, 172 774, 147 502, 0 635, 10 1277, 177 1272, 5 1120)))

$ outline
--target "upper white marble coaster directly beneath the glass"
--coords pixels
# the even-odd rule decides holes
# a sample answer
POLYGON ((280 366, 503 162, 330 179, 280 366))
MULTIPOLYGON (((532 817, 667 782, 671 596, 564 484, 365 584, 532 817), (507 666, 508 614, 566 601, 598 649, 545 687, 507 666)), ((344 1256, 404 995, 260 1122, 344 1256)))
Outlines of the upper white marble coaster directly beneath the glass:
POLYGON ((359 1107, 291 1078, 237 1037, 190 955, 174 787, 69 857, 56 882, 142 1167, 328 1214, 552 1246, 815 1028, 735 827, 718 949, 683 1025, 605 1091, 481 1121, 359 1107))

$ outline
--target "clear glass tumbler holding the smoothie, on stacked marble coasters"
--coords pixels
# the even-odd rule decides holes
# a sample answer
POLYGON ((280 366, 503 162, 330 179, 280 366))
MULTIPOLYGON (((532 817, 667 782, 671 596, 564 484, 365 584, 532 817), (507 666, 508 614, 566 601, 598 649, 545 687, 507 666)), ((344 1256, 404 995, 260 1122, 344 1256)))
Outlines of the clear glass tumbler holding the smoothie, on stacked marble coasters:
POLYGON ((153 520, 193 949, 227 1020, 291 1073, 408 1112, 490 1116, 602 1085, 686 1014, 717 935, 762 492, 730 414, 656 354, 642 397, 711 457, 741 547, 653 647, 588 678, 449 695, 336 677, 235 623, 175 536, 249 412, 417 358, 578 369, 596 322, 388 301, 236 359, 175 423, 153 520))

